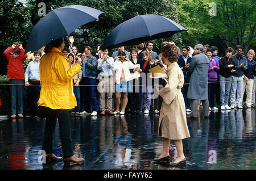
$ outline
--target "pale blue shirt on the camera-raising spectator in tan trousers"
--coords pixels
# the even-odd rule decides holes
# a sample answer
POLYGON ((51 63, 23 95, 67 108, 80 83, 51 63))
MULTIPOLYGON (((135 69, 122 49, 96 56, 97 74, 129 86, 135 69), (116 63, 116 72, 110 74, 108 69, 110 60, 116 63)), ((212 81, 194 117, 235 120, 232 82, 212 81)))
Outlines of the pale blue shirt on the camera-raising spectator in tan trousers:
POLYGON ((101 71, 101 77, 113 76, 114 58, 109 57, 106 61, 102 62, 103 58, 98 59, 97 69, 101 71))

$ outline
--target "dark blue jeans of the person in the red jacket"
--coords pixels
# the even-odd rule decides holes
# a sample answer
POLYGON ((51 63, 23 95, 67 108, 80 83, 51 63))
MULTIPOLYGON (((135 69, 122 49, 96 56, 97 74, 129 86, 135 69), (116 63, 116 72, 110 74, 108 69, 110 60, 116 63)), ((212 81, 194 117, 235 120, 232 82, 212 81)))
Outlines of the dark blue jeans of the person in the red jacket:
POLYGON ((11 115, 23 114, 23 84, 23 79, 10 79, 11 115))

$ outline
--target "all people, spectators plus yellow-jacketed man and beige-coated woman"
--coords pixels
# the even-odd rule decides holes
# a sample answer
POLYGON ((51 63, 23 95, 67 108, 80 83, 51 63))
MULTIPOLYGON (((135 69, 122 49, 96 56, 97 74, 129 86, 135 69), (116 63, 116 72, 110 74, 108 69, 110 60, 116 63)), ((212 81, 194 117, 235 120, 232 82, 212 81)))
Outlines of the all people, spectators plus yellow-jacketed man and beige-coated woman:
POLYGON ((109 50, 101 49, 100 45, 93 56, 91 47, 86 46, 84 53, 79 53, 73 46, 73 37, 69 41, 69 48, 65 47, 64 37, 52 41, 45 54, 44 47, 24 54, 21 44, 12 45, 4 52, 9 62, 11 117, 16 117, 16 113, 23 117, 25 79, 28 114, 35 115, 38 107, 40 116, 46 117, 42 149, 47 159, 84 162, 84 158, 74 155, 69 115, 97 116, 98 111, 100 115, 142 111, 147 114, 152 110, 160 113, 158 136, 163 138, 163 152, 153 161, 178 166, 186 162, 182 140, 190 137, 187 119, 197 119, 200 102, 204 119, 209 118, 209 111, 218 110, 216 104, 221 110, 243 108, 245 90, 246 108, 254 107, 255 52, 249 50, 246 58, 240 45, 236 47, 236 54, 229 47, 226 56, 220 58, 214 46, 197 44, 194 49, 183 47, 180 51, 173 42, 167 41, 162 43, 162 53, 158 54, 152 50, 154 42, 148 41, 145 47, 139 44, 130 52, 118 47, 110 57, 109 50), (23 62, 27 57, 33 58, 24 73, 23 62), (186 112, 192 113, 187 116, 186 112), (57 119, 63 157, 53 154, 57 119), (177 149, 177 158, 172 163, 171 140, 177 149))

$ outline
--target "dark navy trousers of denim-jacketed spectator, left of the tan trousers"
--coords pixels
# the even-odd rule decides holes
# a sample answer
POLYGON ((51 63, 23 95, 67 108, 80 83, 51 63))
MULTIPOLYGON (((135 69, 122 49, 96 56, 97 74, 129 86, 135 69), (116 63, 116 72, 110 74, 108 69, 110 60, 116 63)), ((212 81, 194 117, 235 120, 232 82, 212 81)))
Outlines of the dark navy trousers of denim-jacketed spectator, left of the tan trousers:
POLYGON ((82 96, 84 98, 84 110, 90 113, 91 112, 90 106, 92 105, 92 110, 98 111, 97 98, 96 98, 96 90, 97 90, 96 79, 83 77, 82 85, 86 85, 82 87, 82 96))

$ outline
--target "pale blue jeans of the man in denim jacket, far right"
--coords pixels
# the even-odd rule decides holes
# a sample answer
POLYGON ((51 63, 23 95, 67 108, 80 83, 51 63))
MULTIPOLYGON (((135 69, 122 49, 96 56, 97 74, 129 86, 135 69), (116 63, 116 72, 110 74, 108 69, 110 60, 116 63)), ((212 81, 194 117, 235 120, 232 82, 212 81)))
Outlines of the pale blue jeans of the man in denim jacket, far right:
POLYGON ((232 75, 231 77, 233 82, 231 82, 230 104, 237 104, 237 106, 242 106, 243 76, 236 77, 232 75))

